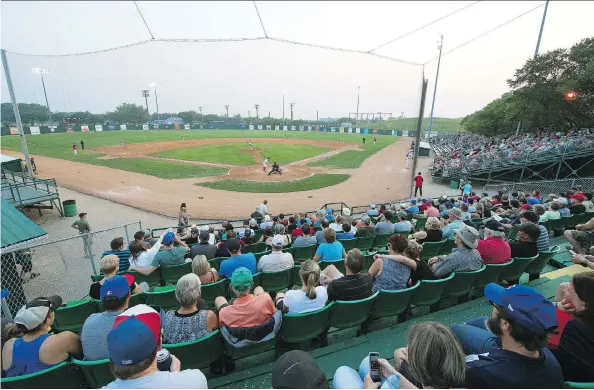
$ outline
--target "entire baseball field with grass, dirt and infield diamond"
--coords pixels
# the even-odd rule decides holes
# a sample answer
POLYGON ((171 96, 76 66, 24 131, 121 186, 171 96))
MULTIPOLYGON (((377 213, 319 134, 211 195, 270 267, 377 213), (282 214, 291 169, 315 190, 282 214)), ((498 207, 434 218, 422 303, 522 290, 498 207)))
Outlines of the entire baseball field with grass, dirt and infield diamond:
MULTIPOLYGON (((410 188, 410 171, 403 169, 410 142, 394 136, 258 130, 27 136, 40 177, 166 215, 175 215, 186 202, 198 218, 244 217, 264 198, 278 212, 314 210, 334 201, 360 205, 400 199, 410 188), (282 175, 268 175, 274 162, 282 175)), ((16 136, 2 137, 2 149, 21 156, 16 136)))

